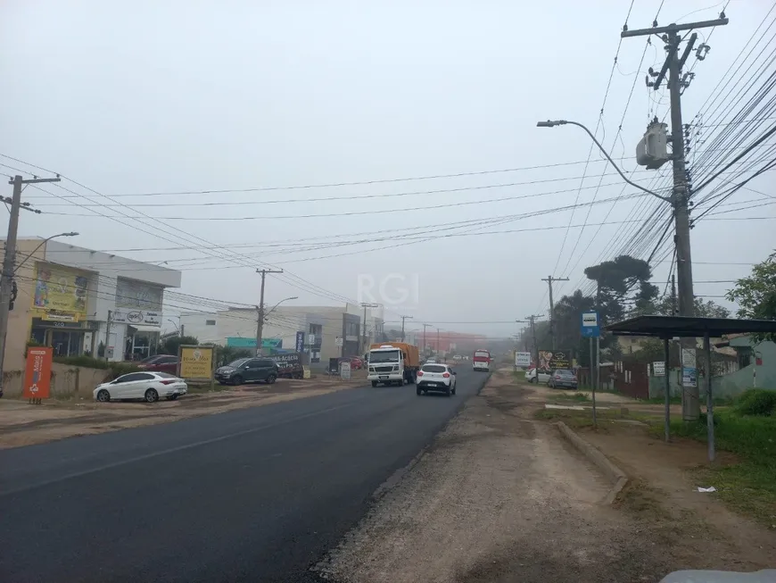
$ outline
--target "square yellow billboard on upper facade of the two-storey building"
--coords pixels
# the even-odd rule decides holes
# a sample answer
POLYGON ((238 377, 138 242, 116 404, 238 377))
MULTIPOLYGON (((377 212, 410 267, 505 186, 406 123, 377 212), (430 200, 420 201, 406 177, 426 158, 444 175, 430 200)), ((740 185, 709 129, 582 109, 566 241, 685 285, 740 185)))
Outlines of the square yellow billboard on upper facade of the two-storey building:
POLYGON ((88 284, 83 271, 38 263, 32 307, 44 320, 86 320, 88 284))

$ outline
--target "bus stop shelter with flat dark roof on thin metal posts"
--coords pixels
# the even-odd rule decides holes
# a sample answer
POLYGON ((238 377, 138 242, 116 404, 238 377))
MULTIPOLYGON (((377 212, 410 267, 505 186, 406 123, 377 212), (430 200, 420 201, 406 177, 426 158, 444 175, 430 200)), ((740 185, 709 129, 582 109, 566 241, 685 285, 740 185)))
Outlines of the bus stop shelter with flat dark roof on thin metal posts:
POLYGON ((773 334, 774 320, 740 320, 734 318, 694 318, 689 316, 638 316, 605 328, 615 336, 656 337, 663 340, 665 355, 665 441, 671 440, 671 379, 668 341, 673 338, 703 338, 706 356, 706 432, 708 459, 714 462, 714 397, 712 395, 711 341, 727 334, 773 334))

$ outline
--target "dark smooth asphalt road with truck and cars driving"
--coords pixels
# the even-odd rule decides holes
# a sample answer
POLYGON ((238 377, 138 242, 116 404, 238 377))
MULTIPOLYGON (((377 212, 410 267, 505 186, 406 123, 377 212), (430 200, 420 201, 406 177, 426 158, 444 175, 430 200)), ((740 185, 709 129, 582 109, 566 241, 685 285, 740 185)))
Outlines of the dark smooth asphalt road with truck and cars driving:
POLYGON ((0 451, 2 581, 316 581, 458 395, 364 387, 0 451))

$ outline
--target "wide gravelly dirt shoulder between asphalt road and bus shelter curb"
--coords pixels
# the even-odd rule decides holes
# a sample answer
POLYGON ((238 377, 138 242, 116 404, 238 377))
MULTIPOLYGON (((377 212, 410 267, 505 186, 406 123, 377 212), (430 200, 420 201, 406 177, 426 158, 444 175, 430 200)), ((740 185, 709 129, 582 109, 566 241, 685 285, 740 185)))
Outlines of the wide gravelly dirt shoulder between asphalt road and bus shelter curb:
POLYGON ((602 504, 611 485, 534 419, 535 392, 494 374, 317 570, 347 583, 545 583, 678 568, 673 539, 602 504))

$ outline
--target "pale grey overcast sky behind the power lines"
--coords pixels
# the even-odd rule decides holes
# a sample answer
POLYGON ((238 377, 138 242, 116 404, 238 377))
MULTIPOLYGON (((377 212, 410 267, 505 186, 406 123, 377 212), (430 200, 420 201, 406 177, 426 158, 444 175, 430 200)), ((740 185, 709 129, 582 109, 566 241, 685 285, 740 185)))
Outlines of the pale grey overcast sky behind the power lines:
MULTIPOLYGON (((714 19, 722 3, 712 2, 635 0, 629 28, 651 26, 661 4, 661 25, 714 19)), ((45 186, 70 196, 62 200, 27 188, 25 200, 45 213, 24 213, 20 234, 77 230, 73 244, 167 261, 184 271, 180 291, 232 303, 257 303, 257 266, 299 278, 268 278, 268 302, 299 296, 295 303, 307 305, 367 299, 359 298, 359 274, 376 283, 401 274, 407 287, 417 274, 417 302, 413 289, 403 304, 387 306, 386 320, 409 313, 416 326, 513 334, 517 324, 448 322, 514 321, 546 311, 541 278, 571 279, 557 284, 556 298, 573 291, 586 266, 628 245, 638 223, 618 221, 643 220, 657 204, 623 197, 553 210, 637 191, 623 189, 599 154, 582 182, 585 164, 571 163, 590 152, 582 130, 535 127, 548 118, 596 127, 630 4, 6 0, 0 152, 94 189, 68 181, 61 186, 72 192, 45 186), (545 167, 239 191, 534 166, 545 167), (235 191, 125 196, 228 189, 235 191), (445 192, 428 192, 439 190, 445 192), (417 194, 380 196, 404 193, 417 194), (545 213, 522 216, 531 212, 545 213), (611 224, 600 226, 604 221, 611 224), (482 234, 489 231, 508 232, 482 234), (353 241, 360 242, 342 245, 353 241), (169 250, 178 246, 186 248, 169 250), (133 248, 151 250, 124 251, 133 248)), ((710 29, 701 31, 712 49, 683 96, 685 122, 694 121, 731 65, 736 70, 772 4, 731 0, 731 23, 710 39, 710 29)), ((648 119, 667 112, 665 91, 650 94, 643 80, 665 53, 659 42, 645 53, 645 42, 623 40, 598 131, 613 156, 626 156, 627 171, 635 168, 648 119)), ((16 173, 7 166, 0 171, 16 173)), ((650 180, 654 171, 633 178, 666 184, 650 180)), ((772 196, 774 185, 770 172, 747 186, 772 196)), ((5 190, 10 196, 11 187, 5 190)), ((720 207, 721 216, 708 218, 773 217, 768 206, 736 210, 760 198, 741 190, 720 207)), ((747 263, 771 253, 774 223, 699 221, 692 231, 695 279, 747 275, 747 263)), ((651 248, 656 237, 641 244, 651 248)), ((657 282, 666 281, 670 259, 656 264, 657 282)), ((695 289, 722 296, 728 287, 695 289)), ((400 297, 395 280, 385 290, 386 301, 400 297)))

